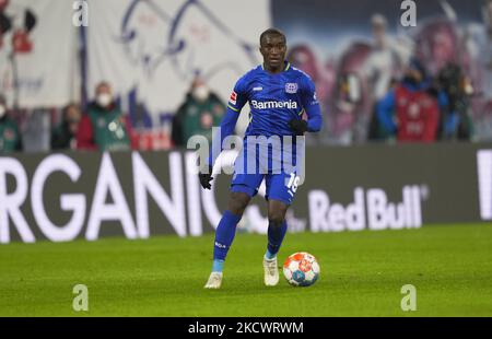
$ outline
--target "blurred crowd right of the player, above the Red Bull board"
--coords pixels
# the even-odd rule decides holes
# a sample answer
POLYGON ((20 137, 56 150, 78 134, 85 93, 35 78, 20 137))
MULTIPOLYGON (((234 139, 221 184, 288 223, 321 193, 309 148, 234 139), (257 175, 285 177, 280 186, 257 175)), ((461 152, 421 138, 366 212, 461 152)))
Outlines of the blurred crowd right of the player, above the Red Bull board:
MULTIPOLYGON (((487 139, 490 131, 477 138, 473 117, 479 121, 487 112, 488 74, 478 71, 477 44, 459 35, 455 22, 434 19, 401 36, 387 33, 380 14, 374 14, 370 25, 372 42, 352 42, 338 60, 326 65, 306 45, 291 48, 291 62, 313 78, 326 114, 325 132, 312 141, 487 139)), ((490 52, 480 57, 492 61, 490 52)))

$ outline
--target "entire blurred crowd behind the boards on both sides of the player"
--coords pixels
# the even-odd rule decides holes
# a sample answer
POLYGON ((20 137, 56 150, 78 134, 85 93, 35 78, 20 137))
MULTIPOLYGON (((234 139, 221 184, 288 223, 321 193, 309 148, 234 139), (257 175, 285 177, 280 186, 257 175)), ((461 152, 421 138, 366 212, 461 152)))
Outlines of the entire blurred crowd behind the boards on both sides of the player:
MULTIPOLYGON (((492 17, 492 4, 490 12, 492 17)), ((379 14, 372 16, 370 25, 372 42, 352 42, 339 59, 328 60, 323 67, 309 46, 291 46, 289 61, 313 78, 325 114, 324 130, 309 136, 308 141, 353 144, 483 140, 476 135, 478 127, 487 124, 473 126, 473 121, 485 121, 477 119, 480 115, 484 119, 490 116, 485 113, 487 107, 492 107, 492 100, 488 100, 491 89, 487 86, 492 78, 488 74, 492 72, 492 54, 485 50, 490 65, 485 65, 489 71, 483 74, 472 62, 468 37, 458 38, 448 20, 426 23, 412 38, 389 36, 387 21, 379 14), (477 83, 481 83, 480 91, 477 83)), ((485 35, 492 37, 492 28, 485 35)), ((12 114, 15 109, 8 107, 0 95, 0 152, 46 151, 36 148, 43 143, 40 140, 51 150, 186 147, 194 135, 211 140, 212 127, 225 113, 224 102, 197 75, 173 116, 171 130, 160 132, 164 141, 150 147, 145 141, 148 131, 132 127, 110 83, 97 84, 93 97, 85 107, 71 103, 50 110, 46 121, 46 112, 12 114)), ((492 137, 492 132, 489 135, 492 137)))

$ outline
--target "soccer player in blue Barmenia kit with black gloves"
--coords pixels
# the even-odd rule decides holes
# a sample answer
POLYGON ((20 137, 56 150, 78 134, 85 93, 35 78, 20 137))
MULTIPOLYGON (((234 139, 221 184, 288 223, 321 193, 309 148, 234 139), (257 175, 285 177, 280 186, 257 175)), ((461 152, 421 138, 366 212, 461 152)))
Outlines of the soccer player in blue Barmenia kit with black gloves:
POLYGON ((261 152, 255 151, 256 145, 248 148, 248 140, 258 137, 270 140, 277 137, 282 141, 283 147, 283 140, 290 137, 290 140, 293 140, 291 147, 295 148, 296 136, 317 132, 321 128, 321 113, 313 81, 307 74, 285 61, 285 35, 276 28, 265 31, 260 36, 259 50, 263 57, 263 63, 243 75, 234 86, 226 114, 221 122, 220 138, 214 138, 208 166, 201 168, 199 174, 201 186, 210 189, 210 182, 213 179, 212 167, 218 156, 214 153, 222 151, 224 139, 233 133, 241 109, 246 102, 249 102, 250 122, 245 133, 243 149, 235 162, 227 210, 215 231, 212 273, 204 285, 206 289, 221 287, 224 260, 234 239, 236 225, 247 204, 258 192, 263 178, 267 187, 269 220, 268 246, 263 257, 265 284, 277 285, 279 282, 277 253, 288 230, 285 212, 292 203, 300 182, 297 165, 300 161, 296 159, 300 155, 295 154, 296 149, 291 149, 291 160, 295 162, 295 165, 289 166, 291 170, 285 170, 288 166, 282 163, 282 166, 271 168, 270 163, 274 162, 273 150, 268 150, 268 159, 261 159, 261 152), (307 114, 307 120, 302 118, 304 112, 307 114), (254 171, 250 171, 251 157, 255 164, 254 171), (245 159, 246 162, 249 161, 247 171, 245 159))

